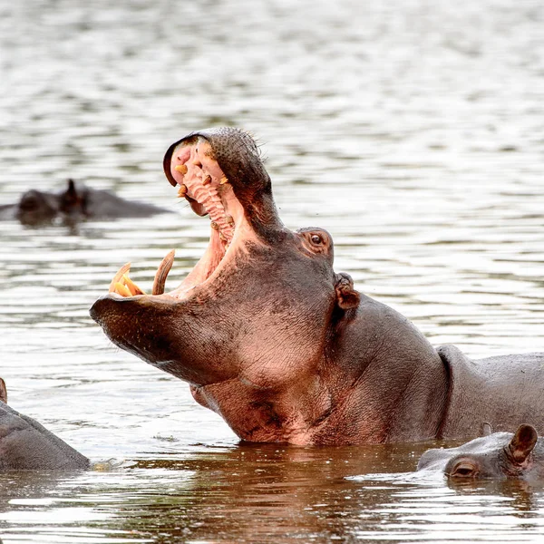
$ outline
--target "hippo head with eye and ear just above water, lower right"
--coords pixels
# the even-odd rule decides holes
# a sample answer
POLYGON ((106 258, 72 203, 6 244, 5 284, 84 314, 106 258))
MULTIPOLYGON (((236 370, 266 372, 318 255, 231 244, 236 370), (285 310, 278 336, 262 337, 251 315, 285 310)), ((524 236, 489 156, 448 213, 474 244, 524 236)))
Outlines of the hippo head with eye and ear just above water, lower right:
POLYGON ((544 440, 531 425, 494 432, 458 448, 424 452, 418 471, 441 471, 452 479, 544 478, 544 440))

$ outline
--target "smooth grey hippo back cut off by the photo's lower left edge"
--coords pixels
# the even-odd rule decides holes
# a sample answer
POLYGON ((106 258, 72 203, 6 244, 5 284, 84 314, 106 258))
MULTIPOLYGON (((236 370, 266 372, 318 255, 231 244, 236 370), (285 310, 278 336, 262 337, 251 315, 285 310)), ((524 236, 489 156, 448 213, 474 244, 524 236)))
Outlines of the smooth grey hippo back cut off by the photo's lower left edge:
POLYGON ((89 460, 31 417, 7 405, 0 378, 0 471, 84 470, 89 460))

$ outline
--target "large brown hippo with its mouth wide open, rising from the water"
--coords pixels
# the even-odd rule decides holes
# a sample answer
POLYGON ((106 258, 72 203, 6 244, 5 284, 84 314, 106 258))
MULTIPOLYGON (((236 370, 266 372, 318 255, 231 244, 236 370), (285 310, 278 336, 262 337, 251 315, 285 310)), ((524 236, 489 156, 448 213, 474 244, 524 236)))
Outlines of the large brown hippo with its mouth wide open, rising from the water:
POLYGON ((199 131, 170 146, 170 184, 211 219, 209 247, 164 293, 129 278, 91 308, 112 342, 190 384, 247 441, 355 444, 474 437, 484 422, 544 431, 544 354, 473 363, 438 350, 405 317, 335 273, 321 228, 277 215, 244 131, 199 131))

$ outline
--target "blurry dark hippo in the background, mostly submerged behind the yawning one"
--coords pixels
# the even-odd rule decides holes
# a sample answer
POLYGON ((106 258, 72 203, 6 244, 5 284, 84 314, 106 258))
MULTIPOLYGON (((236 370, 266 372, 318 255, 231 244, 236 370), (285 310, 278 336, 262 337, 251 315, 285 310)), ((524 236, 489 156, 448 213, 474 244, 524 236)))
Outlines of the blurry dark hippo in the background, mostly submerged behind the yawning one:
POLYGON ((158 213, 170 213, 170 210, 121 199, 107 190, 76 187, 73 180, 68 180, 68 187, 60 192, 30 189, 16 204, 0 206, 0 220, 18 219, 24 225, 38 225, 57 218, 72 221, 146 218, 158 213))

